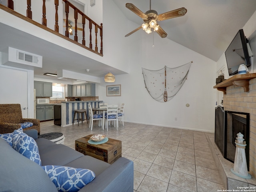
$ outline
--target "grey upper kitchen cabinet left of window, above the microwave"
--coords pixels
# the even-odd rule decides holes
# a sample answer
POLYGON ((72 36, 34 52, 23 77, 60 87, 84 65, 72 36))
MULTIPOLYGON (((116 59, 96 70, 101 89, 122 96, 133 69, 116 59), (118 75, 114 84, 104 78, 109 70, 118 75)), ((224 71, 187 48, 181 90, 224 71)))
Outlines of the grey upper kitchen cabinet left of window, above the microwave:
POLYGON ((52 83, 34 81, 36 97, 52 97, 52 83))

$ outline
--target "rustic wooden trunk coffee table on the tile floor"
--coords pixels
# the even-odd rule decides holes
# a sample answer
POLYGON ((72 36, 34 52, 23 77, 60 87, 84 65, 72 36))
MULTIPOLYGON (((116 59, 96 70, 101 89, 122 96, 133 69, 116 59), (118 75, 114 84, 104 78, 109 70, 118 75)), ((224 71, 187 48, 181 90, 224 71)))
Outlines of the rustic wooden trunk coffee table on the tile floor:
POLYGON ((122 141, 108 138, 103 144, 90 144, 88 140, 93 134, 76 140, 76 151, 89 155, 109 164, 122 156, 122 141))

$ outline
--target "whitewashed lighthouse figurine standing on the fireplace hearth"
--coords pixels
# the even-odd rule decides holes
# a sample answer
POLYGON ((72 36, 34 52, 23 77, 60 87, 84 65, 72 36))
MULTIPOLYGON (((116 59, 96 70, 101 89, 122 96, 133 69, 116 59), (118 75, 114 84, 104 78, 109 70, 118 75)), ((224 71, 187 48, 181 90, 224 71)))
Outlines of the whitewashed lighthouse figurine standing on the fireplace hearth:
POLYGON ((242 177, 244 179, 250 179, 252 176, 247 171, 247 163, 246 163, 246 156, 245 156, 245 146, 246 142, 244 141, 244 135, 242 133, 236 134, 236 156, 234 160, 234 169, 231 168, 230 170, 235 175, 242 177))

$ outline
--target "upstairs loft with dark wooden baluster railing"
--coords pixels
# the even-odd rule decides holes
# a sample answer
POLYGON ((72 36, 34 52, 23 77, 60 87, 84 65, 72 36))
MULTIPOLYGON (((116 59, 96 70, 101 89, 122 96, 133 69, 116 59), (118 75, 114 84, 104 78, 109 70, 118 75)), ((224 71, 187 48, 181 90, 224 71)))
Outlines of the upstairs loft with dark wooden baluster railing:
POLYGON ((31 4, 31 0, 16 2, 5 0, 0 4, 0 9, 94 54, 103 56, 102 24, 96 24, 82 10, 67 0, 47 2, 41 0, 40 3, 42 6, 38 3, 31 4), (24 3, 25 1, 26 3, 24 3), (22 14, 22 12, 26 12, 26 14, 22 14), (42 24, 39 23, 40 20, 42 20, 42 24))

